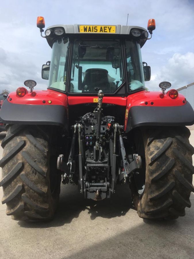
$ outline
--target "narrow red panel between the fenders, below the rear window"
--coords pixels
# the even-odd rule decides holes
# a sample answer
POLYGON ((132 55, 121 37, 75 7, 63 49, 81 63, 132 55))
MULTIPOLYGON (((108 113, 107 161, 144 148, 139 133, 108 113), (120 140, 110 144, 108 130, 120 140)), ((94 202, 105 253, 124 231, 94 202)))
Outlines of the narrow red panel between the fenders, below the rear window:
MULTIPOLYGON (((69 105, 95 103, 94 99, 98 99, 97 95, 96 96, 68 96, 69 105)), ((126 97, 104 96, 103 103, 126 106, 126 99, 127 99, 126 97)))

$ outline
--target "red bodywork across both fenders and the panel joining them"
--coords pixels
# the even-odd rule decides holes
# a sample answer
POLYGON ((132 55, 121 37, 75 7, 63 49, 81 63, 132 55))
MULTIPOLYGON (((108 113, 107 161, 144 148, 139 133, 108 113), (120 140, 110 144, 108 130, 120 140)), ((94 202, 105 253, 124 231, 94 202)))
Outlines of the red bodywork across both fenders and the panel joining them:
MULTIPOLYGON (((48 105, 49 100, 51 104, 49 105, 64 105, 68 108, 68 105, 76 105, 76 104, 84 104, 84 103, 93 103, 94 99, 97 99, 96 96, 67 96, 66 94, 62 94, 53 90, 42 90, 36 91, 36 96, 32 97, 30 91, 24 97, 19 97, 16 92, 12 92, 9 94, 9 98, 7 100, 11 103, 16 104, 38 104, 38 105, 48 105), (11 98, 11 101, 10 101, 11 98), (45 103, 43 103, 43 100, 45 103)), ((170 98, 168 94, 164 94, 164 98, 160 98, 161 92, 146 92, 141 91, 135 94, 130 94, 127 97, 112 97, 105 96, 103 97, 103 103, 116 104, 120 106, 126 107, 125 113, 125 130, 128 119, 128 112, 132 106, 182 106, 185 103, 185 97, 182 94, 179 94, 176 99, 170 98), (147 102, 147 105, 146 105, 147 102), (152 104, 151 104, 152 103, 152 104)), ((121 114, 121 116, 124 116, 121 114)))

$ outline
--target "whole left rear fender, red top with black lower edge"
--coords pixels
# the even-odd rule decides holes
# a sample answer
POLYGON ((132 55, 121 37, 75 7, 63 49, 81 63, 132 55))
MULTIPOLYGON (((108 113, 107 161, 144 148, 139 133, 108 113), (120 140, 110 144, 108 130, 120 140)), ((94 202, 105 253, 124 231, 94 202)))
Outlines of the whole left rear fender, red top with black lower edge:
POLYGON ((32 98, 10 93, 1 107, 0 120, 6 124, 58 125, 68 128, 68 97, 55 91, 37 91, 32 98))

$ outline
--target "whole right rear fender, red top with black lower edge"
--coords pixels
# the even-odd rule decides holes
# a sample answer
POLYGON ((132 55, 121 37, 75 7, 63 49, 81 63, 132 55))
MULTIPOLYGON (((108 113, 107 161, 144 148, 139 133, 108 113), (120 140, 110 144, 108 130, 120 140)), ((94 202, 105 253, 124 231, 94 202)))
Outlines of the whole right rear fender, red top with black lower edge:
POLYGON ((161 92, 140 92, 127 98, 125 132, 139 126, 188 126, 194 124, 194 111, 183 95, 177 100, 161 92))

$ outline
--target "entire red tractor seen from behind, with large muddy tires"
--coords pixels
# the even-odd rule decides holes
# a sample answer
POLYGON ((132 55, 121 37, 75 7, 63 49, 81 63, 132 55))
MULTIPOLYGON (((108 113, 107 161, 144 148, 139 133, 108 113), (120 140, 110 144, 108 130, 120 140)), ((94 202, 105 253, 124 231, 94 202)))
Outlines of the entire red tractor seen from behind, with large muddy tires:
MULTIPOLYGON (((146 29, 121 25, 56 25, 41 36, 52 48, 42 67, 48 89, 24 85, 7 97, 0 119, 2 203, 14 220, 53 217, 60 183, 77 184, 86 199, 110 198, 128 184, 141 218, 185 215, 194 167, 189 129, 194 111, 169 82, 148 92, 141 59, 146 29)), ((148 22, 152 35, 155 20, 148 22)))

